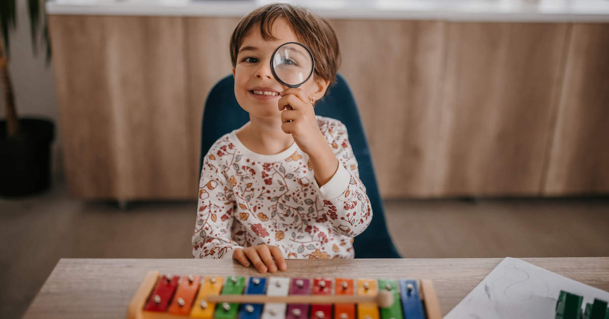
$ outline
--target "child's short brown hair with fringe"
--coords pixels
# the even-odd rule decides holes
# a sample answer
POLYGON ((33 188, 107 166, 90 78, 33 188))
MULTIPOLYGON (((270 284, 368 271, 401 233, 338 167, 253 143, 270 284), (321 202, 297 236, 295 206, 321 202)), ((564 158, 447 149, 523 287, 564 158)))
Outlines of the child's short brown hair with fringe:
POLYGON ((271 27, 277 18, 285 18, 298 40, 311 49, 315 59, 315 77, 334 84, 340 65, 339 42, 334 30, 328 21, 308 9, 283 3, 259 7, 239 22, 230 39, 233 68, 237 63, 239 47, 252 27, 260 28, 264 40, 276 40, 271 34, 271 27))

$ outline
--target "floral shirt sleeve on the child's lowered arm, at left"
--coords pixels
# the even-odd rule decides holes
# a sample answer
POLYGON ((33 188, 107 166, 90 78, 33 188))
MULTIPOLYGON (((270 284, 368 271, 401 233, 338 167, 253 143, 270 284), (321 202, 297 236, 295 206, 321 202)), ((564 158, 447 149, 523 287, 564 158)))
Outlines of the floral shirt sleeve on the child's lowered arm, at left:
POLYGON ((232 258, 232 250, 242 248, 231 239, 233 190, 222 171, 219 148, 212 147, 203 160, 199 179, 197 221, 192 234, 195 258, 232 258))

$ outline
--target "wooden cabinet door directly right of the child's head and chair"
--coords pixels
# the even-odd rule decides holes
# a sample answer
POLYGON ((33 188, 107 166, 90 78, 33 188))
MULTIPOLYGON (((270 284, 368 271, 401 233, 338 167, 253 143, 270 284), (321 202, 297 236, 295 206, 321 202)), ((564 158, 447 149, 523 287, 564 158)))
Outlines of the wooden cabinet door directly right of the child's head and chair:
POLYGON ((331 21, 381 196, 435 195, 444 51, 440 21, 331 21))

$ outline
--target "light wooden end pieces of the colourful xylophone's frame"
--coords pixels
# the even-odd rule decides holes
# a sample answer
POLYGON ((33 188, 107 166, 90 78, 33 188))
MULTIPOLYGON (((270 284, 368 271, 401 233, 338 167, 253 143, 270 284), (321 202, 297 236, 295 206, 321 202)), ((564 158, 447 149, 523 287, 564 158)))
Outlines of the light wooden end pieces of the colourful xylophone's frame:
MULTIPOLYGON (((127 319, 183 319, 192 318, 167 312, 144 311, 144 305, 150 297, 150 293, 157 284, 160 276, 159 271, 150 270, 144 280, 139 284, 138 290, 133 295, 127 309, 127 319)), ((429 279, 420 279, 419 294, 424 305, 427 319, 441 319, 440 303, 435 293, 434 284, 429 279)))

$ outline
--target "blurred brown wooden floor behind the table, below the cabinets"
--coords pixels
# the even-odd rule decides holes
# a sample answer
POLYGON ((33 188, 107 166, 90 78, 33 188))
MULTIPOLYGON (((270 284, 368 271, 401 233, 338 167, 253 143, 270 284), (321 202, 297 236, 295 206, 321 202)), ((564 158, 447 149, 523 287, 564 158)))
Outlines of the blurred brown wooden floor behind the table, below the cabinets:
MULTIPOLYGON (((0 318, 21 316, 62 257, 189 258, 196 203, 0 199, 0 318)), ((403 257, 609 256, 609 198, 385 202, 403 257)))

